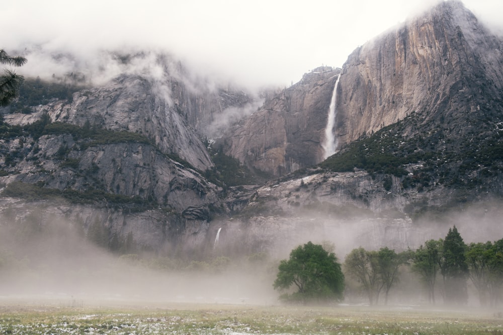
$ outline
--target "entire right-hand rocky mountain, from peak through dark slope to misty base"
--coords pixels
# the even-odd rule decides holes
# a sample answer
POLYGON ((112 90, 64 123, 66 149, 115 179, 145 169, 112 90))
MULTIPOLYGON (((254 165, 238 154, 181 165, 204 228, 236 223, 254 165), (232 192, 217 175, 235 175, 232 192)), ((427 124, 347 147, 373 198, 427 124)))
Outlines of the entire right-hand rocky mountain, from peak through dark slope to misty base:
MULTIPOLYGON (((462 226, 473 241, 498 236, 502 52, 503 41, 457 1, 442 2, 357 48, 337 85, 333 133, 339 152, 317 168, 299 169, 259 188, 240 215, 258 230, 256 236, 267 237, 277 227, 281 233, 275 236, 287 241, 330 237, 340 246, 348 241, 353 247, 417 246, 441 236, 438 230, 446 227, 441 222, 462 226)), ((323 101, 323 107, 318 119, 306 125, 312 140, 305 165, 321 161, 332 94, 328 87, 333 88, 338 73, 315 84, 327 88, 311 97, 323 101)), ((237 125, 224 140, 224 150, 276 176, 292 171, 281 159, 288 157, 286 151, 274 151, 281 141, 271 134, 291 146, 282 134, 301 113, 284 107, 289 106, 286 92, 302 89, 297 84, 266 101, 265 106, 284 104, 237 125), (259 122, 266 115, 288 121, 259 122), (256 152, 262 156, 249 155, 256 152), (278 162, 284 165, 279 168, 278 162)))

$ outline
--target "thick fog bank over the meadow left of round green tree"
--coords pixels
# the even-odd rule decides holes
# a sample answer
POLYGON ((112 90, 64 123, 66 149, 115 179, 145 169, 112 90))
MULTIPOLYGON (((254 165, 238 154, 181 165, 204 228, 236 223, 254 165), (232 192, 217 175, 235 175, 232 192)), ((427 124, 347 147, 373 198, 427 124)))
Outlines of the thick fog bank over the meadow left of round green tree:
POLYGON ((207 255, 113 254, 53 217, 0 226, 0 298, 63 305, 114 302, 275 303, 268 265, 207 255), (171 256, 171 257, 169 257, 171 256))

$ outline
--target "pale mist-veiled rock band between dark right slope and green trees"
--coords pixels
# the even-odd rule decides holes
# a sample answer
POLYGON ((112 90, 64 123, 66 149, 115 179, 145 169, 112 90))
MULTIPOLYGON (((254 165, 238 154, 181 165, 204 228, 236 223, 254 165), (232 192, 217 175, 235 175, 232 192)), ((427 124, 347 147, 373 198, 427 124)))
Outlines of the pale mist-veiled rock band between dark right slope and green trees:
POLYGON ((463 210, 453 207, 443 220, 412 220, 406 206, 442 204, 450 190, 404 190, 393 178, 390 191, 382 176, 364 171, 313 173, 284 178, 255 190, 248 204, 231 220, 213 222, 222 227, 222 248, 244 253, 266 252, 285 258, 296 246, 313 241, 330 242, 339 257, 352 249, 397 251, 415 249, 439 239, 456 225, 467 243, 498 238, 500 202, 484 199, 463 210))

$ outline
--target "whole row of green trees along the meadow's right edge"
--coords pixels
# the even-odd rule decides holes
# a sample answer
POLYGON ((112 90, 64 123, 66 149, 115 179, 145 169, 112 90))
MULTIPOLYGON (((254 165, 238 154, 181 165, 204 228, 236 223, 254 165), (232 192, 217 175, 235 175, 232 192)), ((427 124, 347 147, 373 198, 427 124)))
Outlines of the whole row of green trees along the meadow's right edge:
POLYGON ((351 278, 370 305, 378 304, 381 297, 387 304, 402 267, 425 285, 431 304, 437 302, 437 292, 445 304, 466 304, 471 281, 480 305, 495 306, 503 292, 503 239, 465 244, 454 226, 444 239, 426 241, 416 250, 353 249, 342 264, 333 253, 309 242, 281 261, 273 286, 286 292, 280 296, 286 301, 327 302, 342 300, 345 280, 351 278))

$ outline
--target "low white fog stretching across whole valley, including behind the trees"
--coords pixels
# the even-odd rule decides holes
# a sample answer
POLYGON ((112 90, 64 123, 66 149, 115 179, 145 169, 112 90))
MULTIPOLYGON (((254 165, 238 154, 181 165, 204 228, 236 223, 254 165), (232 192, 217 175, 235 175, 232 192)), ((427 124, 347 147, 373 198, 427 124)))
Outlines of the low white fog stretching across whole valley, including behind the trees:
MULTIPOLYGON (((309 221, 299 217, 279 218, 276 225, 256 225, 256 231, 246 233, 248 241, 242 241, 249 244, 254 234, 268 233, 269 243, 275 241, 276 246, 257 245, 258 250, 248 254, 226 250, 231 236, 236 237, 232 230, 244 226, 232 221, 215 222, 208 231, 211 235, 208 240, 213 241, 218 228, 222 228, 218 244, 197 257, 144 251, 114 254, 89 242, 83 229, 73 222, 54 219, 41 224, 37 220, 9 220, 4 216, 0 220, 0 299, 50 299, 61 304, 89 304, 98 300, 277 304, 279 292, 272 287, 277 266, 297 245, 308 241, 324 244, 343 263, 346 254, 360 246, 367 250, 388 246, 402 251, 406 247, 383 244, 400 238, 409 239, 408 247, 415 250, 428 239, 444 238, 453 224, 467 244, 496 241, 503 238, 497 207, 490 210, 475 207, 453 213, 444 224, 408 221, 405 226, 397 224, 398 221, 389 220, 391 223, 386 225, 384 221, 368 218, 348 221, 347 225, 328 225, 326 222, 330 220, 326 217, 309 221), (281 220, 290 224, 297 221, 297 225, 281 227, 281 220), (304 230, 290 230, 300 227, 302 222, 304 230)), ((440 275, 438 280, 441 281, 440 275)), ((347 294, 345 302, 368 303, 365 296, 354 294, 356 286, 347 280, 348 292, 353 294, 347 294)), ((471 290, 470 303, 477 305, 476 292, 471 290)), ((406 267, 401 269, 400 281, 391 289, 389 303, 428 303, 424 285, 406 267)), ((442 304, 440 295, 437 304, 442 304)))

